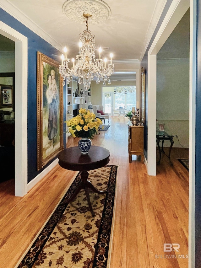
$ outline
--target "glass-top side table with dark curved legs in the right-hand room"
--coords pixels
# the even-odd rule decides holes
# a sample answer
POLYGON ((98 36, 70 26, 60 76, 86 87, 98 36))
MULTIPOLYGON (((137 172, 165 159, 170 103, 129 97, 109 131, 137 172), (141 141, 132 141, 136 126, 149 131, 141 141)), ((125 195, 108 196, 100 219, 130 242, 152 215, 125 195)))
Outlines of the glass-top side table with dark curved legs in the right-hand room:
POLYGON ((158 145, 158 150, 159 150, 159 161, 157 162, 158 165, 160 164, 161 151, 163 153, 165 153, 164 150, 163 150, 164 141, 170 141, 170 143, 171 143, 170 144, 170 148, 169 148, 168 158, 170 160, 170 164, 173 165, 172 162, 171 162, 171 159, 170 159, 171 149, 172 149, 172 145, 174 143, 173 137, 174 137, 174 135, 171 135, 171 134, 167 133, 166 131, 156 130, 156 143, 158 145), (160 149, 160 141, 162 141, 162 147, 161 147, 161 149, 160 149))

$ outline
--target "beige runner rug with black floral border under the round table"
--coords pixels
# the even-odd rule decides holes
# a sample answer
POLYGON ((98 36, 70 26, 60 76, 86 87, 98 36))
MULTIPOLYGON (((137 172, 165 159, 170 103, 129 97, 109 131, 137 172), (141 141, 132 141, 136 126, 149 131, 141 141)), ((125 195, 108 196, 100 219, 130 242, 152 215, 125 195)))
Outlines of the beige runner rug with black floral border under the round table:
MULTIPOLYGON (((98 190, 107 189, 106 194, 89 189, 95 217, 91 216, 84 190, 69 204, 61 205, 61 201, 18 268, 108 267, 116 178, 114 165, 89 171, 93 185, 98 190)), ((62 200, 73 194, 80 180, 79 173, 62 200)))

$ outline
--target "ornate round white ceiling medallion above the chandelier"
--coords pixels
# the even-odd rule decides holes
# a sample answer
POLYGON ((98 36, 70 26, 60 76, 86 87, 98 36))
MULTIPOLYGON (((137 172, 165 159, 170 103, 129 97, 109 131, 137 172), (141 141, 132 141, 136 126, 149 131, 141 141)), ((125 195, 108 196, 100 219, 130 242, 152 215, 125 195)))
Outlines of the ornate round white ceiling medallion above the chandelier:
POLYGON ((101 0, 67 0, 62 7, 63 13, 73 21, 83 24, 83 13, 91 14, 90 24, 98 24, 111 15, 109 6, 101 0))

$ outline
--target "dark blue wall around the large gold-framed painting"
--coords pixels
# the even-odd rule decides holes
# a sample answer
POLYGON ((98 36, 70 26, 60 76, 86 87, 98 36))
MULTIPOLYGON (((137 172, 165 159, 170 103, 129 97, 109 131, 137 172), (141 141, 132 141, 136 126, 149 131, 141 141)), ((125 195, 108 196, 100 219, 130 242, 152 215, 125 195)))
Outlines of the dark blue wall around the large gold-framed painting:
MULTIPOLYGON (((1 8, 0 20, 28 38, 28 182, 30 182, 44 169, 37 171, 37 51, 40 51, 57 62, 60 62, 61 52, 1 8)), ((65 99, 64 92, 64 100, 65 99)), ((15 105, 18 104, 16 103, 15 105)), ((64 111, 65 110, 66 104, 64 101, 64 111)), ((65 121, 65 113, 63 121, 65 121)), ((66 137, 64 135, 64 145, 65 144, 66 137)), ((50 161, 50 163, 52 161, 50 161)), ((48 163, 45 168, 50 163, 48 163)))

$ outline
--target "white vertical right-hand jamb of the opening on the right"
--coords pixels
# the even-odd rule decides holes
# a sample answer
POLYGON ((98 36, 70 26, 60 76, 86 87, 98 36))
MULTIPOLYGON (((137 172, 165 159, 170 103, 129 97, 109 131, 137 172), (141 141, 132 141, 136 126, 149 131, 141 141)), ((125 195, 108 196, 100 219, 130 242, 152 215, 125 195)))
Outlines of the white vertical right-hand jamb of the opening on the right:
POLYGON ((190 1, 188 267, 195 267, 195 99, 197 5, 190 1))

